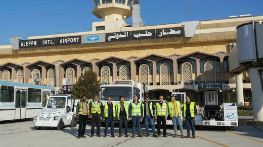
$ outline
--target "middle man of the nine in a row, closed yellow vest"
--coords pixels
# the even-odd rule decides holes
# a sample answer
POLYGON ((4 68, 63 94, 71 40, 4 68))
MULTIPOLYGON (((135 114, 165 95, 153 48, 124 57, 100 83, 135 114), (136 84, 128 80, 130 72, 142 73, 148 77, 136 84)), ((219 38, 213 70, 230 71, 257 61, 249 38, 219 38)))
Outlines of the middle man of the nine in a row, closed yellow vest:
POLYGON ((133 121, 133 136, 135 137, 135 127, 137 126, 138 136, 143 137, 141 134, 140 120, 143 120, 143 104, 138 101, 138 97, 134 96, 134 101, 129 104, 129 119, 133 121))

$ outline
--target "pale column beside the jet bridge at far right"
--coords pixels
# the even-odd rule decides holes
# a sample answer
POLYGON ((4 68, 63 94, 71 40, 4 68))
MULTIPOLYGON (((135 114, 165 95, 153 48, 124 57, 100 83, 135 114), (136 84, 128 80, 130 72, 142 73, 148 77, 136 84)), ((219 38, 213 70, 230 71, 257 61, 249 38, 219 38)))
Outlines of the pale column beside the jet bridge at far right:
POLYGON ((243 74, 236 75, 237 106, 244 106, 243 74))

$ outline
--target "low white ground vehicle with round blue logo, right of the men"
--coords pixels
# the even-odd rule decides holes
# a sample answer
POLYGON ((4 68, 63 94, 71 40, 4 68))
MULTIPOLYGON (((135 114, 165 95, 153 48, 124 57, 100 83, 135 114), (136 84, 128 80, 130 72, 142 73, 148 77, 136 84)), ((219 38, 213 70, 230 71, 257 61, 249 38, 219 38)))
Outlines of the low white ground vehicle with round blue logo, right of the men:
POLYGON ((238 126, 236 103, 223 103, 222 105, 205 105, 204 112, 197 114, 197 126, 228 126, 233 129, 238 126))

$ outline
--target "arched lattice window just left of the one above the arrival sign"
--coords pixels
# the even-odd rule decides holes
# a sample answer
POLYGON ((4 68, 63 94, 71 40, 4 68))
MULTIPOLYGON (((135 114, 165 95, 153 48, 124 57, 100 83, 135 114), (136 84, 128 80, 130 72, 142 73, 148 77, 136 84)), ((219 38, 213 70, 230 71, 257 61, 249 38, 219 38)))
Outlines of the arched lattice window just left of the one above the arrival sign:
POLYGON ((182 64, 182 80, 184 81, 184 85, 188 85, 190 79, 192 79, 192 64, 189 62, 185 62, 182 64))

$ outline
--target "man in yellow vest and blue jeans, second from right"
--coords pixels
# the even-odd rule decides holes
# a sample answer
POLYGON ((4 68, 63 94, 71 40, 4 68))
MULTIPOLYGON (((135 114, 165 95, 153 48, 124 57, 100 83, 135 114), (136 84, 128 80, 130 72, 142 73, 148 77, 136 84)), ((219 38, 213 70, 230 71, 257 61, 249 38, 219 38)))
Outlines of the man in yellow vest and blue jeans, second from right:
POLYGON ((180 128, 181 137, 184 138, 184 129, 181 119, 182 105, 176 100, 174 96, 171 96, 171 101, 168 103, 168 110, 173 124, 173 130, 175 135, 173 137, 178 137, 177 124, 180 128))

